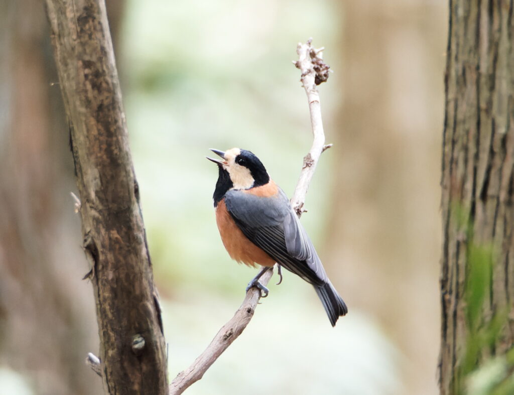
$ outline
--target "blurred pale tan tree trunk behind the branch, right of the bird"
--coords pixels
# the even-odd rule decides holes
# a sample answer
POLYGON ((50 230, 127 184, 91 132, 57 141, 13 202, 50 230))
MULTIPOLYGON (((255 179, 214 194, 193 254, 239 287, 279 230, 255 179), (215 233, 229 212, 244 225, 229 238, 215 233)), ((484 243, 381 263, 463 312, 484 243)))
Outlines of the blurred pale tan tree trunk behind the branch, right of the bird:
POLYGON ((343 59, 331 78, 344 100, 327 127, 338 187, 325 262, 350 313, 376 317, 407 357, 405 393, 434 394, 445 4, 338 5, 343 59))

